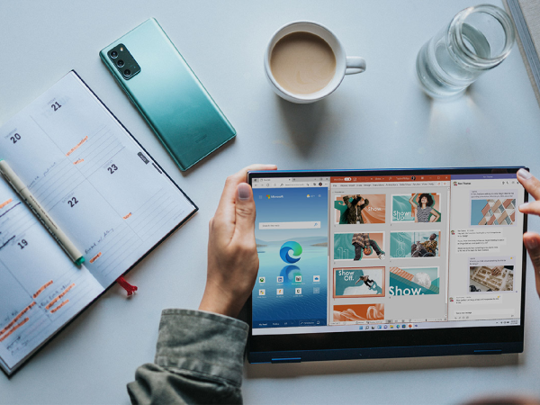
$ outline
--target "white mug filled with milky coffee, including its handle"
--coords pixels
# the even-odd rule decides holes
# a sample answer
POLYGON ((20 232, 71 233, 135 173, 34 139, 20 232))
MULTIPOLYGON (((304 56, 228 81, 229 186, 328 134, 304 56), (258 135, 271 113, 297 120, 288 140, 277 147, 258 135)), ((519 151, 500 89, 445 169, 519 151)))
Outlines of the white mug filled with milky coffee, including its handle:
POLYGON ((364 72, 365 59, 347 57, 338 37, 320 23, 299 21, 275 31, 266 47, 265 71, 275 94, 314 103, 332 94, 345 75, 364 72))

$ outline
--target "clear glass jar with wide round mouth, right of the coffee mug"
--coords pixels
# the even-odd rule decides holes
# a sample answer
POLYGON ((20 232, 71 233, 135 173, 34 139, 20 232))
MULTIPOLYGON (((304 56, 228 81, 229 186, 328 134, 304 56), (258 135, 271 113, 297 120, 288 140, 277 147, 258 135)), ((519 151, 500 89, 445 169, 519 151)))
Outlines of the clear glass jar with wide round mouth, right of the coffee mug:
POLYGON ((514 25, 500 7, 466 8, 420 49, 417 74, 433 98, 455 98, 486 71, 509 56, 514 25))

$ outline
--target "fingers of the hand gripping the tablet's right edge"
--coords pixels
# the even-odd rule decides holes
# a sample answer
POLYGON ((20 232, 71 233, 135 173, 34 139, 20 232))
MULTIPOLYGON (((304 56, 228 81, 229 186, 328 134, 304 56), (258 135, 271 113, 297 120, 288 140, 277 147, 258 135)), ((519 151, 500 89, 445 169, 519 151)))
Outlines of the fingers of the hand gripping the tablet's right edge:
MULTIPOLYGON (((526 214, 540 215, 540 181, 525 169, 518 170, 518 181, 536 200, 535 202, 521 204, 519 211, 526 214)), ((523 235, 523 242, 535 267, 536 293, 540 295, 540 235, 535 232, 526 232, 523 235)))

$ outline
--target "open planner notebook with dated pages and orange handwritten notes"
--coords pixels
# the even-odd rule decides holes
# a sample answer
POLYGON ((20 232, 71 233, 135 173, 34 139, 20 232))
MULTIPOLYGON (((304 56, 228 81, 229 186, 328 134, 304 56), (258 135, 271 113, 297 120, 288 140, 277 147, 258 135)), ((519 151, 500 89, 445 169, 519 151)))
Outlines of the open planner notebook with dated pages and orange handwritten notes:
POLYGON ((197 207, 71 71, 0 128, 0 154, 85 257, 0 177, 0 366, 12 374, 197 207))

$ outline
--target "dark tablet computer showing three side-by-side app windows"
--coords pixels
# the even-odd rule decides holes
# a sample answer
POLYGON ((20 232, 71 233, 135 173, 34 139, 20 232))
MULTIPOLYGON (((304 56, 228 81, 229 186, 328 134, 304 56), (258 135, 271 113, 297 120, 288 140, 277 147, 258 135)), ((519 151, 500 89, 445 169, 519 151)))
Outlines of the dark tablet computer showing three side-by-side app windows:
POLYGON ((250 172, 250 363, 523 351, 519 167, 250 172))

